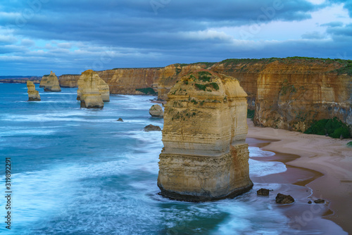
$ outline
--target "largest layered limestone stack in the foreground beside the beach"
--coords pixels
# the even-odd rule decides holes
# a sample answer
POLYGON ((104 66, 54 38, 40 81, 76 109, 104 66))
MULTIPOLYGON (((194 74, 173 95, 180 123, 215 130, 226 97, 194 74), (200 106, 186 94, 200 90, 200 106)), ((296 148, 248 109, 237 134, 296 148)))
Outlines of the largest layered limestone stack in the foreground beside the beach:
POLYGON ((249 191, 246 92, 234 77, 184 75, 168 93, 159 155, 161 195, 214 201, 249 191))

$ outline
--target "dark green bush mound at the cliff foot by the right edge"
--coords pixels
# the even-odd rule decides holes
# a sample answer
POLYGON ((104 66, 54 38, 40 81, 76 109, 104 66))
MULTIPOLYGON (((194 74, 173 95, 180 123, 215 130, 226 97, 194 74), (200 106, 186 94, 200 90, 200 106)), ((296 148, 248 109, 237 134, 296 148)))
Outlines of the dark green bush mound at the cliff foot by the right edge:
POLYGON ((336 117, 333 119, 322 119, 316 121, 304 133, 319 135, 327 134, 332 138, 340 138, 340 136, 343 136, 344 139, 348 139, 351 137, 348 126, 336 117))

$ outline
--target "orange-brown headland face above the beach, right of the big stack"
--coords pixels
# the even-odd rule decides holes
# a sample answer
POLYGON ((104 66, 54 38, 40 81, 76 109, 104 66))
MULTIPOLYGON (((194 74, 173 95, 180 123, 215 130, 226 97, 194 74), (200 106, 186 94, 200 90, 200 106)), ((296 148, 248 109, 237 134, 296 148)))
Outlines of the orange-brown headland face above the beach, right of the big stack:
POLYGON ((312 120, 337 117, 352 125, 352 77, 339 63, 275 61, 258 77, 254 123, 304 132, 312 120))

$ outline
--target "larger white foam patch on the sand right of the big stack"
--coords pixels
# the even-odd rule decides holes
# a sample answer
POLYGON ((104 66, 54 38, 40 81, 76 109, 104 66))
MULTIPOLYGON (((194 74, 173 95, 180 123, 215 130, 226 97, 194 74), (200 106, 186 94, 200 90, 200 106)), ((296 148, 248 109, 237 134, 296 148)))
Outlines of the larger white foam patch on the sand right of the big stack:
POLYGON ((287 167, 284 163, 263 162, 249 158, 249 174, 253 177, 263 177, 268 174, 286 172, 287 167))

